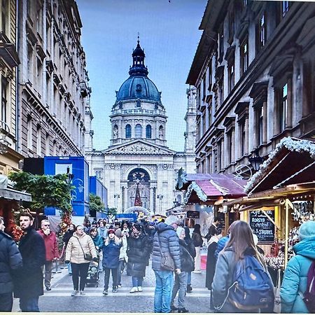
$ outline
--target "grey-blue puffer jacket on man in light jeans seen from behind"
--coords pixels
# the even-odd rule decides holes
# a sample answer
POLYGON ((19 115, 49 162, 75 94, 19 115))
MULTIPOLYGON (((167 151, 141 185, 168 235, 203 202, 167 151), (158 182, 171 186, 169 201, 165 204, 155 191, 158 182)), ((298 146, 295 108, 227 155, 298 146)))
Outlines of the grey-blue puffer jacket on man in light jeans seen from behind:
POLYGON ((161 251, 169 251, 175 262, 175 268, 181 268, 181 258, 179 251, 179 237, 174 228, 163 222, 158 223, 155 227, 156 233, 153 239, 152 269, 162 270, 161 268, 161 251), (159 239, 160 238, 160 242, 159 239))

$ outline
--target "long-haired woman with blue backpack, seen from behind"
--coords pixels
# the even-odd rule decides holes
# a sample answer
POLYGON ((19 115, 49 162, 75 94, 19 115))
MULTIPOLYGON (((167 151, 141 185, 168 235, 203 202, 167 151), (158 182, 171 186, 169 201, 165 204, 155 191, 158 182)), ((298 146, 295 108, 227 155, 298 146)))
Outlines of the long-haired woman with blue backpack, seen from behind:
POLYGON ((244 221, 235 221, 230 226, 228 243, 218 255, 212 295, 219 313, 259 313, 266 307, 273 309, 272 279, 254 244, 251 228, 244 221))

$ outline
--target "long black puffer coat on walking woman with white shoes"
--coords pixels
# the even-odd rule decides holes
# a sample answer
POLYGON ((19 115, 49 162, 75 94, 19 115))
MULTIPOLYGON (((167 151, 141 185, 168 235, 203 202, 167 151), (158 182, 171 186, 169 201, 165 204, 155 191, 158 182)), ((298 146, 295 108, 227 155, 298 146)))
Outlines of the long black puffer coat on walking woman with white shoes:
POLYGON ((127 276, 146 276, 146 265, 151 254, 151 241, 144 234, 135 238, 132 235, 127 239, 127 276))

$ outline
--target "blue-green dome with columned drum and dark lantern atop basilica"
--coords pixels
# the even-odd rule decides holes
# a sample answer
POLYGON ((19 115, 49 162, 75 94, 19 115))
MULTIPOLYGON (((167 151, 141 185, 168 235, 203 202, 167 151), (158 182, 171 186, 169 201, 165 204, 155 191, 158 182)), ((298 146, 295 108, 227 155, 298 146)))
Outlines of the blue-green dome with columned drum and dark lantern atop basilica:
POLYGON ((161 102, 161 92, 148 78, 145 57, 138 37, 137 48, 132 52, 130 77, 116 91, 116 102, 111 110, 111 146, 136 139, 166 146, 165 107, 161 102))

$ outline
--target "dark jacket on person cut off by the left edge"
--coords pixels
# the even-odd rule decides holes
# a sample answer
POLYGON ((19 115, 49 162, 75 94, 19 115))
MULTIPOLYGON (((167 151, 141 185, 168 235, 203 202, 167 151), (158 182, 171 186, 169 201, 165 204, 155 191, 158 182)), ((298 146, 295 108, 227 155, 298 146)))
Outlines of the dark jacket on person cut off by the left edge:
POLYGON ((12 272, 22 267, 22 256, 15 241, 0 230, 0 294, 12 293, 12 272))

